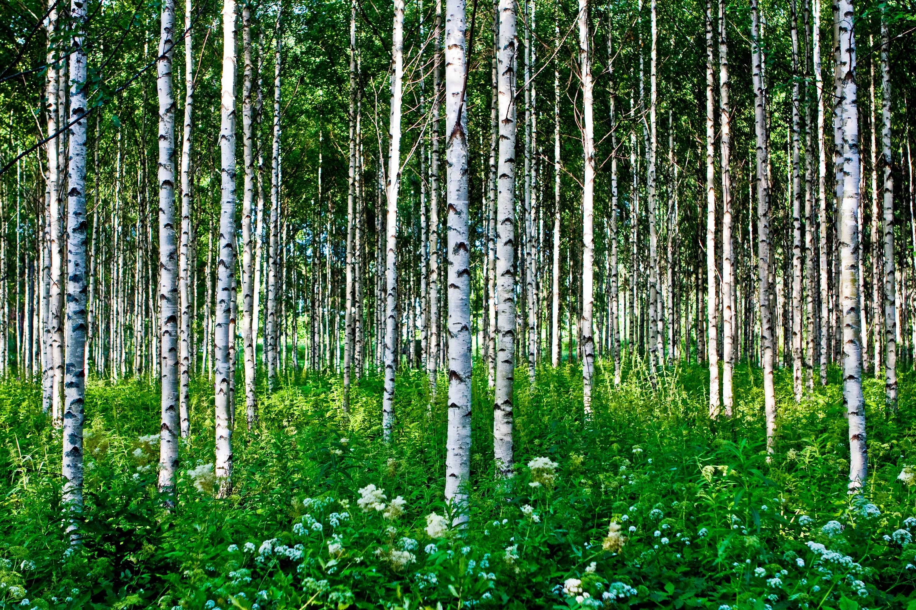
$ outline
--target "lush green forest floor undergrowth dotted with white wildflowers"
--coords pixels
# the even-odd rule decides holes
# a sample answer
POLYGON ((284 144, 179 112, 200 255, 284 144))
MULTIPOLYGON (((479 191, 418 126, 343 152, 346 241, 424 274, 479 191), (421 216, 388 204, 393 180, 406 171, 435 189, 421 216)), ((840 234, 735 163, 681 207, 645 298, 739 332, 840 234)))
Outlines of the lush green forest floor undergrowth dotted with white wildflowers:
POLYGON ((338 378, 300 375, 260 397, 253 432, 240 396, 226 499, 213 498, 213 393, 196 380, 171 512, 156 490, 157 391, 93 380, 73 549, 60 432, 35 385, 6 382, 0 607, 916 610, 912 372, 895 414, 883 382, 866 381, 868 480, 849 495, 837 370, 801 405, 791 370, 777 373, 768 460, 759 370, 737 369, 736 415, 711 422, 702 368, 670 370, 655 391, 641 366, 619 388, 597 369, 589 419, 575 366, 539 369, 533 388, 516 376, 517 475, 503 482, 475 369, 470 519, 458 530, 442 519, 444 377, 430 408, 425 375, 399 375, 390 445, 377 378, 360 381, 347 416, 338 378))

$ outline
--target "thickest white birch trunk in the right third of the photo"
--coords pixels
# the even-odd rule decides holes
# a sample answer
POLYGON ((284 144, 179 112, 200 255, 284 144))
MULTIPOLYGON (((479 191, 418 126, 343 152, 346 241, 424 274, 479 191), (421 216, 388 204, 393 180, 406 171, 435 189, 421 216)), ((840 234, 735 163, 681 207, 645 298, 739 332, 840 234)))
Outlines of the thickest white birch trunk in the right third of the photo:
POLYGON ((840 298, 843 307, 843 402, 849 419, 849 488, 865 484, 868 455, 865 429, 865 397, 862 394, 862 346, 859 326, 858 219, 860 159, 856 94, 856 37, 852 0, 839 0, 839 53, 837 78, 841 79, 841 128, 843 137, 843 198, 839 209, 840 298))

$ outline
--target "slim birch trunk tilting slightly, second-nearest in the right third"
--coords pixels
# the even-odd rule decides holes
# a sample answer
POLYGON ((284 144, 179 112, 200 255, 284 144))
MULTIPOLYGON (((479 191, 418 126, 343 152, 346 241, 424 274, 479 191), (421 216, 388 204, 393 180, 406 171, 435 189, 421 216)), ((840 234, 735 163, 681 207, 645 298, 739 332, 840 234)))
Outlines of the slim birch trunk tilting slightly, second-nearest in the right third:
POLYGON ((760 307, 760 343, 762 349, 764 410, 767 418, 767 451, 773 452, 776 431, 776 395, 773 389, 773 316, 769 302, 769 134, 767 101, 763 82, 763 58, 760 40, 758 0, 751 0, 751 70, 754 80, 754 123, 757 135, 757 218, 760 307))

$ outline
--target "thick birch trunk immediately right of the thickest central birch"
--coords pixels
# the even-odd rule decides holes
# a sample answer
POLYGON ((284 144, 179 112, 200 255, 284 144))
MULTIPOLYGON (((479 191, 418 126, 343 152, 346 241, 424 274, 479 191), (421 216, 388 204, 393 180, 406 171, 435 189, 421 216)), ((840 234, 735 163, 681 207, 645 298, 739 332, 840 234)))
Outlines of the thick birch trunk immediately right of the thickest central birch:
MULTIPOLYGON (((496 389, 493 411, 493 453, 496 473, 512 476, 513 396, 515 375, 515 57, 518 52, 516 3, 499 0, 496 43, 498 73, 499 161, 496 199, 496 389)), ((556 239, 556 238, 554 238, 556 239)))

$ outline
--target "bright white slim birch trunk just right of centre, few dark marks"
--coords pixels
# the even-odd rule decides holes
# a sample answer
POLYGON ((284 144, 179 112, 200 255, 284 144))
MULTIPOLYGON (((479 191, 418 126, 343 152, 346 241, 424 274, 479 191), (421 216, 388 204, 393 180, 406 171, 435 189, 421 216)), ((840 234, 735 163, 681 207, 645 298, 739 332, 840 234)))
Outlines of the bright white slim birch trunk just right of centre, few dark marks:
MULTIPOLYGON (((654 0, 653 0, 654 5, 654 0)), ((582 77, 583 101, 583 198, 582 198, 582 376, 583 409, 592 412, 592 377, 594 375, 594 112, 592 60, 589 54, 588 0, 579 0, 579 70, 582 77)), ((654 173, 654 168, 653 168, 654 173)))

